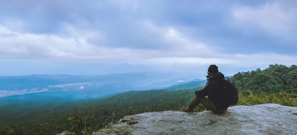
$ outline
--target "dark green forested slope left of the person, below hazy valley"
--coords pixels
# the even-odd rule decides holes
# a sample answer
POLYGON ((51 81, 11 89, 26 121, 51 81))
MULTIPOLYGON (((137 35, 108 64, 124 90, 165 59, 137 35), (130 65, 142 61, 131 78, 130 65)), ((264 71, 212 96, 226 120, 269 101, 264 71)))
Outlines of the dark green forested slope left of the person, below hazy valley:
POLYGON ((0 135, 10 135, 8 132, 13 132, 13 130, 20 133, 16 135, 55 135, 66 130, 78 134, 79 131, 84 131, 85 127, 87 135, 92 135, 99 129, 111 126, 123 116, 179 110, 181 106, 187 106, 195 97, 195 90, 201 88, 128 91, 105 99, 81 101, 55 107, 45 106, 40 109, 34 109, 32 107, 34 105, 30 104, 28 107, 31 107, 31 111, 25 112, 22 111, 26 108, 25 106, 20 107, 15 104, 0 106, 0 135), (90 117, 87 125, 84 126, 82 123, 88 114, 94 118, 90 117))

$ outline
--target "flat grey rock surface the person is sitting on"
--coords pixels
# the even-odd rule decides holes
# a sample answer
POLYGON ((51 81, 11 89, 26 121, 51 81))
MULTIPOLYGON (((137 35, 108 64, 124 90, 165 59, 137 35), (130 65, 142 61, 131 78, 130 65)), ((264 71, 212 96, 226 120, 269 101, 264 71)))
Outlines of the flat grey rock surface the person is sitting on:
POLYGON ((297 107, 279 104, 238 105, 221 115, 147 112, 125 116, 123 121, 93 135, 297 135, 297 107), (128 125, 128 120, 138 123, 128 125))

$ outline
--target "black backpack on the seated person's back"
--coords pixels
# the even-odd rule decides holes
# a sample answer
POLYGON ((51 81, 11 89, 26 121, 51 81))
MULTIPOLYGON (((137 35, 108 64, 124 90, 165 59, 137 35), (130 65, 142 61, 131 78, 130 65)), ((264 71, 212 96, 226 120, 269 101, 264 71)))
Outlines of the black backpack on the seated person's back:
POLYGON ((234 105, 238 103, 237 85, 228 77, 225 77, 225 79, 222 80, 222 93, 227 105, 234 105))

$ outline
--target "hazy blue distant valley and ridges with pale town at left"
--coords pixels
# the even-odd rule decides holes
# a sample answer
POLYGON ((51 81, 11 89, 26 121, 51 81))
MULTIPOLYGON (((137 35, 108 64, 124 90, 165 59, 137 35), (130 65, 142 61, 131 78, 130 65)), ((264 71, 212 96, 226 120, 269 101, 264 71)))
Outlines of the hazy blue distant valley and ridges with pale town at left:
POLYGON ((91 99, 130 90, 164 89, 179 80, 190 81, 171 73, 0 76, 0 99, 91 99))

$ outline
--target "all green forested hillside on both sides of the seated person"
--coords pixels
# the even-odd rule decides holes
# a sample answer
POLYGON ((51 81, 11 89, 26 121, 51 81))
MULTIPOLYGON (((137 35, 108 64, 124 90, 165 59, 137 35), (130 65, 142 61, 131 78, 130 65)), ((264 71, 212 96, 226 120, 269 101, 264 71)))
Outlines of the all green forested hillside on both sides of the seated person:
MULTIPOLYGON (((278 103, 297 106, 297 94, 292 94, 297 89, 296 71, 296 65, 286 67, 275 64, 264 70, 235 74, 233 80, 244 93, 239 93, 237 105, 278 103)), ((0 105, 0 135, 55 135, 65 130, 79 133, 84 131, 85 126, 88 135, 92 135, 94 131, 105 128, 126 115, 180 110, 195 97, 195 90, 204 87, 203 82, 197 83, 198 86, 191 82, 181 83, 168 90, 128 91, 104 99, 67 104, 47 100, 46 104, 34 101, 0 105), (175 90, 178 88, 182 90, 175 90)), ((200 104, 195 111, 204 109, 200 104)))

